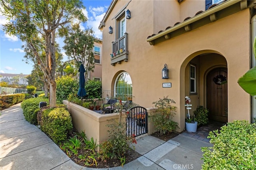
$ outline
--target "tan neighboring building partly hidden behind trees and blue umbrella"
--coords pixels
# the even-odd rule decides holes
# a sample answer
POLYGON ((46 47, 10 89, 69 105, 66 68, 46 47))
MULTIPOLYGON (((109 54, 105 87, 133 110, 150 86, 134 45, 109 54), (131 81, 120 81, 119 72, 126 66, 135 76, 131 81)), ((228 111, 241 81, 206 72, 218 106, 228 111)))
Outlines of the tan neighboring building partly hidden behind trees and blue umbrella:
MULTIPOLYGON (((88 78, 90 80, 101 81, 102 79, 102 40, 100 39, 96 39, 96 40, 98 40, 98 42, 94 42, 94 47, 93 47, 95 67, 93 72, 90 71, 88 78)), ((64 68, 66 67, 66 63, 70 64, 70 60, 64 62, 64 68)), ((62 75, 66 75, 66 73, 63 72, 62 75)))

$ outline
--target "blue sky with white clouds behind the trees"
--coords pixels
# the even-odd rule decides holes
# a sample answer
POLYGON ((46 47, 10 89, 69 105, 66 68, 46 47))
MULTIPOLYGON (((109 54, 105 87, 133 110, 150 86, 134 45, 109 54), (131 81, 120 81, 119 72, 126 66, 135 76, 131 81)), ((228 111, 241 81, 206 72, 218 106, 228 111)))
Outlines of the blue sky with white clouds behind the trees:
MULTIPOLYGON (((100 21, 104 17, 108 6, 112 0, 83 0, 86 10, 84 10, 85 16, 88 21, 83 24, 84 28, 92 28, 94 30, 94 36, 102 39, 102 33, 98 30, 100 21)), ((25 53, 21 48, 23 42, 17 37, 10 37, 2 31, 2 24, 6 23, 6 19, 0 14, 0 73, 15 73, 15 74, 30 74, 32 71, 32 63, 26 64, 22 61, 25 53)), ((62 39, 58 39, 57 42, 62 46, 62 39)), ((61 49, 62 53, 64 50, 61 49)), ((64 55, 64 60, 67 57, 64 55)))

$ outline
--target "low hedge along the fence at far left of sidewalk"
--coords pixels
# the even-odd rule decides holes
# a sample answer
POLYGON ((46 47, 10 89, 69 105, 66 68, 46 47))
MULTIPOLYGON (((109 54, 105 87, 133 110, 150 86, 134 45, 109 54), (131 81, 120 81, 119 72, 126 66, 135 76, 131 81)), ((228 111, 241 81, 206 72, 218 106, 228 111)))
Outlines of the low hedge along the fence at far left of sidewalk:
POLYGON ((25 94, 14 94, 0 96, 0 109, 6 109, 12 105, 22 102, 25 99, 25 94))

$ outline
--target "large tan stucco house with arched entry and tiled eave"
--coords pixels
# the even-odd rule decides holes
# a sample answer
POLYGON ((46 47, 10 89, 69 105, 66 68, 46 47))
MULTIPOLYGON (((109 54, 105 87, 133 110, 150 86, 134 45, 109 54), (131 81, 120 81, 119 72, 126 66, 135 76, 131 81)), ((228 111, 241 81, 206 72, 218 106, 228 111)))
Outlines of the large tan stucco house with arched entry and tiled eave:
POLYGON ((132 95, 134 103, 149 108, 168 96, 176 101, 178 131, 185 128, 185 96, 191 99, 190 113, 202 105, 211 120, 251 121, 256 102, 237 81, 256 65, 255 2, 113 0, 99 26, 104 97, 132 95), (162 79, 165 64, 168 79, 162 79), (228 83, 218 85, 218 78, 228 83))

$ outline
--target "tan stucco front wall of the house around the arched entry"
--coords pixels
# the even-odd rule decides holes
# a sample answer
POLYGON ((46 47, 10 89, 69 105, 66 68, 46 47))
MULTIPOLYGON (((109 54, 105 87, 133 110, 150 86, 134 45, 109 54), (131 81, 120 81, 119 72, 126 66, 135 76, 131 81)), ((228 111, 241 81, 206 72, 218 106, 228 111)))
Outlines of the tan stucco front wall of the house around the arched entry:
MULTIPOLYGON (((185 4, 185 2, 182 3, 185 4)), ((146 10, 146 7, 150 8, 150 3, 140 1, 138 5, 137 1, 131 1, 127 8, 131 11, 132 18, 126 22, 128 62, 122 61, 121 64, 111 66, 111 42, 115 40, 115 37, 114 34, 108 34, 108 27, 114 25, 112 17, 124 4, 122 1, 116 3, 103 28, 103 90, 114 90, 114 81, 118 73, 127 71, 132 78, 133 102, 147 108, 152 107, 153 101, 168 95, 176 101, 174 105, 177 107, 177 113, 174 121, 179 123, 180 131, 182 131, 185 126, 184 97, 187 95, 185 84, 188 81, 185 77, 186 67, 191 59, 200 54, 218 53, 224 57, 203 55, 196 61, 201 65, 200 87, 198 87, 198 95, 192 97, 195 102, 193 105, 205 105, 205 71, 215 64, 227 65, 228 121, 250 120, 250 97, 237 83, 238 78, 250 68, 249 9, 152 46, 146 42, 147 36, 153 33, 151 15, 138 15, 139 12, 146 10), (161 77, 164 63, 168 65, 169 79, 161 77), (162 88, 162 83, 172 83, 172 87, 162 88)), ((148 14, 148 10, 144 12, 148 14)), ((194 15, 194 11, 192 13, 194 15)))

